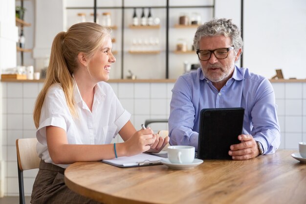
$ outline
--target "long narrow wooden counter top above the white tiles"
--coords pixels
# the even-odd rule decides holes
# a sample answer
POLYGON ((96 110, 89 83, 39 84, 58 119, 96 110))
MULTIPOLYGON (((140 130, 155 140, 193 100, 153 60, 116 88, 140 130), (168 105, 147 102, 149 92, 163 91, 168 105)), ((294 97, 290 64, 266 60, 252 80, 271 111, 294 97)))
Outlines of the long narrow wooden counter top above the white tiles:
MULTIPOLYGON (((109 79, 108 83, 175 83, 176 79, 109 79)), ((306 82, 306 79, 269 79, 271 83, 306 82)), ((1 82, 44 82, 44 79, 1 79, 1 82)))

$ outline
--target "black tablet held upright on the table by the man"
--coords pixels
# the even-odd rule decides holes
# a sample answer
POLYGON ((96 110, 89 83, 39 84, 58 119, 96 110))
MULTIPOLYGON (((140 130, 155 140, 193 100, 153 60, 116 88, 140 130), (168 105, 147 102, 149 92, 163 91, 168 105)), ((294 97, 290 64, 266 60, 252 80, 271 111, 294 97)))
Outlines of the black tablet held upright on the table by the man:
POLYGON ((200 112, 198 159, 232 159, 232 144, 240 143, 244 108, 202 109, 200 112))

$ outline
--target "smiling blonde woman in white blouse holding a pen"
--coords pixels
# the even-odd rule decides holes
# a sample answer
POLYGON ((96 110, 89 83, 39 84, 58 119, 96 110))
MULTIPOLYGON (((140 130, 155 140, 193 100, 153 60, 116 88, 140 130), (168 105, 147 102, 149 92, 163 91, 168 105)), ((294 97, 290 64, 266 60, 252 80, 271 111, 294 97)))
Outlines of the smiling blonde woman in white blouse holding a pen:
MULTIPOLYGON (((169 141, 150 129, 136 131, 109 84, 110 30, 77 23, 54 38, 44 88, 34 122, 42 158, 32 204, 96 203, 67 188, 64 170, 76 161, 98 161, 159 152, 169 141), (124 142, 110 144, 119 135, 124 142)), ((103 172, 101 172, 103 174, 103 172)))

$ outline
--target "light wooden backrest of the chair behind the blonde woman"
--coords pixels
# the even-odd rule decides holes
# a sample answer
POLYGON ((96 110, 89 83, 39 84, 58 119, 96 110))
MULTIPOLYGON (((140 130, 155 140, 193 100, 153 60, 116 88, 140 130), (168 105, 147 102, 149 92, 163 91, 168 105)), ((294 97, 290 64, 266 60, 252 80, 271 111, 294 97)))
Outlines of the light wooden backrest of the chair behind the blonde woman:
POLYGON ((18 167, 21 171, 39 168, 41 159, 36 152, 37 138, 16 140, 18 167))

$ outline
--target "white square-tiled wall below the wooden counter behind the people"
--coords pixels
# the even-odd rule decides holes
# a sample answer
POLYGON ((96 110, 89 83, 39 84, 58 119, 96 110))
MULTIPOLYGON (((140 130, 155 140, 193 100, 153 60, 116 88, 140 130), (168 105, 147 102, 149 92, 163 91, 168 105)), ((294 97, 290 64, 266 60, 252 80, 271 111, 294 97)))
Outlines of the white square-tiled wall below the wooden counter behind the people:
MULTIPOLYGON (((136 129, 146 119, 168 118, 173 83, 110 83, 122 105, 131 114, 136 129)), ((280 148, 297 149, 306 141, 306 83, 273 83, 278 105, 282 142, 280 148)), ((32 111, 42 83, 1 83, 2 143, 4 160, 4 195, 18 195, 15 141, 35 137, 32 111)), ((153 123, 154 131, 167 130, 166 123, 153 123)), ((116 138, 115 141, 120 141, 116 138)), ((37 170, 24 171, 24 190, 30 195, 37 170)))

